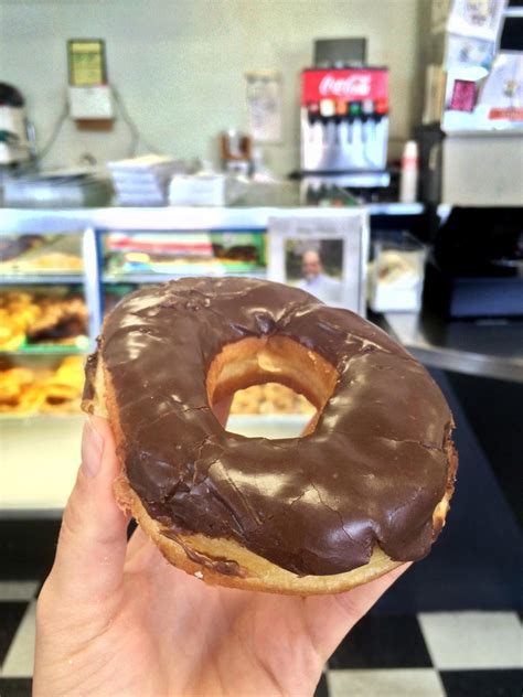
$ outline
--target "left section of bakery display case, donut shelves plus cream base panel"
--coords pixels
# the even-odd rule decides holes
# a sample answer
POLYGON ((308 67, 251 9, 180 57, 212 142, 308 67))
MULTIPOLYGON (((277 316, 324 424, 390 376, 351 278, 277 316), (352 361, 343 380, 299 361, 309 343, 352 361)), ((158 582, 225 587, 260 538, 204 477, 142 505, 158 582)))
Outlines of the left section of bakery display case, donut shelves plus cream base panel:
POLYGON ((82 234, 2 225, 0 513, 63 507, 78 461, 89 346, 82 234))

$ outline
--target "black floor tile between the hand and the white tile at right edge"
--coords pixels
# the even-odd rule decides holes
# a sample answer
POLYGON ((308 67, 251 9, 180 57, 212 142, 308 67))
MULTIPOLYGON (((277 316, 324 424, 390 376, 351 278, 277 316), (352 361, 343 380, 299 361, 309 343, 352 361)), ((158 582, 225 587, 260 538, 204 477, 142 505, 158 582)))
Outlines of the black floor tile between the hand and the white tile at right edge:
POLYGON ((329 660, 331 668, 431 667, 415 615, 364 616, 329 660))

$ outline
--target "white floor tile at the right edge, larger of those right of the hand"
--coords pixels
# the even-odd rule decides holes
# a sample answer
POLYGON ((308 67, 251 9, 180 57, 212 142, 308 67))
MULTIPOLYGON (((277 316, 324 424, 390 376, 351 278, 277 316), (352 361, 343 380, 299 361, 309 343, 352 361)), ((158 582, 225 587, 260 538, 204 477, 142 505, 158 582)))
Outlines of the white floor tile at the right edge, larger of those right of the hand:
POLYGON ((423 612, 418 619, 438 668, 523 665, 523 634, 515 612, 423 612))

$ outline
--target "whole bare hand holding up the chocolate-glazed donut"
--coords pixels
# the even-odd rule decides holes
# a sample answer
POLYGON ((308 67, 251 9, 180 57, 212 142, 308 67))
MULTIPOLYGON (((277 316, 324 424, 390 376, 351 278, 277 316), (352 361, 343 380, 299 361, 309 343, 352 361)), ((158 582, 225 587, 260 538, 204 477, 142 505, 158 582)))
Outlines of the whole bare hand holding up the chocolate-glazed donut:
POLYGON ((34 697, 312 695, 340 641, 407 567, 334 596, 206 586, 141 529, 127 543, 104 419, 86 423, 82 462, 38 601, 34 697))

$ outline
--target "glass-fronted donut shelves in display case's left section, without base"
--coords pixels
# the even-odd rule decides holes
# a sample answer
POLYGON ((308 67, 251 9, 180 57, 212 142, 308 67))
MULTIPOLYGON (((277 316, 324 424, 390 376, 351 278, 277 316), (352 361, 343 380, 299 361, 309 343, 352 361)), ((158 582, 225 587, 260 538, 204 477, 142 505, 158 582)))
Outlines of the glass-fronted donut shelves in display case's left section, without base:
POLYGON ((78 414, 89 349, 75 234, 0 238, 0 415, 78 414))

